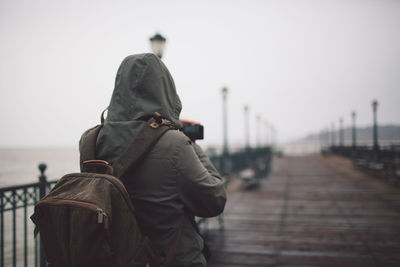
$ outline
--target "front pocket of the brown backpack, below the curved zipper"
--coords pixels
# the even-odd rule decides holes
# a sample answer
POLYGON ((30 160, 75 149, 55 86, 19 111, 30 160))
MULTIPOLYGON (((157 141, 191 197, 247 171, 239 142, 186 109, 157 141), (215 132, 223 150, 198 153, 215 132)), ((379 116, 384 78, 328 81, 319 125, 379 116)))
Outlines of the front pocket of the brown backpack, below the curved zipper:
POLYGON ((50 266, 119 266, 110 246, 109 218, 97 205, 44 199, 34 218, 50 266))

